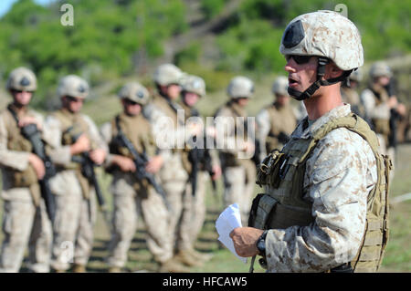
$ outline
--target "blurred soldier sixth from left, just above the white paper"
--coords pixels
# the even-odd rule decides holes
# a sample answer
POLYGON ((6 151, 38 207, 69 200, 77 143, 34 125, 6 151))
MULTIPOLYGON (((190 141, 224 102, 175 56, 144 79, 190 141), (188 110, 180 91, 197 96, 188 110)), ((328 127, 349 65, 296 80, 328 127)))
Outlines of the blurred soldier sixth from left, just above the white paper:
POLYGON ((232 78, 227 87, 230 99, 215 114, 217 149, 225 187, 224 205, 238 203, 243 223, 247 221, 256 179, 256 166, 251 161, 256 150, 255 141, 251 139, 255 124, 247 125, 246 111, 253 93, 254 84, 249 78, 232 78))

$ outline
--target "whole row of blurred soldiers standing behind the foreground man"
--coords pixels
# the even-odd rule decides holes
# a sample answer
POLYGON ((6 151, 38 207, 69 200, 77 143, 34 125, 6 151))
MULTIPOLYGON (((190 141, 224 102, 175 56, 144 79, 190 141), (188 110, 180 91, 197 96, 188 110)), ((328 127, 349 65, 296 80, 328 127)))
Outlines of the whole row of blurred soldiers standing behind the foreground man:
MULTIPOLYGON (((393 140, 390 117, 404 115, 405 109, 386 89, 392 73, 385 64, 374 64, 370 75, 373 82, 361 98, 354 91, 355 82, 361 80, 358 74, 352 74, 351 86, 342 88, 342 96, 355 113, 372 124, 381 136, 380 144, 385 145, 393 140)), ((275 80, 275 100, 258 112, 256 125, 250 128, 227 123, 228 129, 186 124, 191 117, 199 116, 195 104, 205 96, 202 78, 164 64, 155 70, 153 81, 157 92, 151 100, 147 89, 137 82, 121 88, 122 112, 99 130, 90 117, 80 113, 90 90, 82 78, 69 75, 60 80, 61 108, 44 120, 28 108, 37 89, 36 76, 27 68, 11 72, 7 89, 13 102, 0 115, 5 201, 0 262, 3 272, 18 272, 27 244, 30 271, 48 272, 51 266, 56 272, 64 272, 71 263, 74 272, 86 270, 93 243, 96 194, 100 206, 104 206, 92 172, 97 165, 113 178, 107 259, 111 272, 120 272, 127 262, 138 213, 160 272, 188 272, 187 266, 208 260, 210 255, 195 251, 195 241, 205 221, 205 182, 210 178, 215 182, 221 173, 224 205, 238 203, 246 224, 256 165, 250 159, 238 159, 237 154, 255 152, 254 161, 261 161, 290 138, 304 109, 291 108, 288 79, 275 80), (178 114, 179 109, 184 110, 184 116, 178 114), (164 124, 163 117, 169 117, 173 124, 164 124), (239 133, 245 139, 232 143, 237 145, 234 149, 217 151, 200 151, 190 143, 195 136, 215 137, 219 128, 227 130, 227 143, 237 139, 239 133), (247 138, 251 130, 256 130, 258 142, 247 138), (185 139, 184 149, 160 149, 154 140, 164 132, 170 140, 185 139), (67 252, 68 242, 72 254, 67 252)), ((247 119, 246 107, 253 94, 254 84, 249 78, 233 78, 227 87, 229 100, 216 110, 215 118, 247 119)))

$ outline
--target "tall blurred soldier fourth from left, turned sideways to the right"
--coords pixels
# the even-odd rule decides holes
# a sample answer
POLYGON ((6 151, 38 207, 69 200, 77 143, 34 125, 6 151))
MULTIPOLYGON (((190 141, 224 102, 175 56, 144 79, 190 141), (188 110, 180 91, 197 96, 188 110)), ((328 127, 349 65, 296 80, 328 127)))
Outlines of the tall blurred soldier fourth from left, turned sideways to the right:
MULTIPOLYGON (((183 200, 188 173, 184 169, 182 155, 185 139, 198 134, 201 127, 193 124, 190 131, 185 132, 184 109, 176 102, 180 97, 180 81, 184 73, 173 64, 163 64, 156 68, 153 76, 157 94, 153 102, 144 107, 143 114, 153 125, 153 135, 156 144, 164 153, 163 168, 159 178, 170 205, 169 228, 172 241, 176 242, 177 230, 183 213, 183 200)), ((187 129, 188 130, 188 129, 187 129)), ((175 245, 176 246, 176 245, 175 245)), ((185 260, 184 264, 193 264, 194 260, 185 260)))

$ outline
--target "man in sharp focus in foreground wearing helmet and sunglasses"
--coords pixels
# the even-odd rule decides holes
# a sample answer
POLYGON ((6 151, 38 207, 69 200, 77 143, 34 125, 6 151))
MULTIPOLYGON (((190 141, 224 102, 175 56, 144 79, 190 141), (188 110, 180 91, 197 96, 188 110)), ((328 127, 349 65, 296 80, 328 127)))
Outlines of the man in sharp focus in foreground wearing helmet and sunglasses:
POLYGON ((340 93, 364 63, 358 29, 333 11, 298 16, 280 52, 290 95, 304 100, 308 119, 258 170, 266 194, 253 203, 254 227, 230 234, 237 254, 263 255, 269 272, 375 272, 388 234, 389 159, 340 93))

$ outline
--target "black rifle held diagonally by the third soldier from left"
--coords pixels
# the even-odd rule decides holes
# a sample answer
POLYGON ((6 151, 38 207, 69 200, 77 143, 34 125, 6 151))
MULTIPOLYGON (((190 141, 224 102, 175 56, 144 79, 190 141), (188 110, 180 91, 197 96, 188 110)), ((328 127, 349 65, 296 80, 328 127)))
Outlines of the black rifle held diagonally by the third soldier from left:
MULTIPOLYGON (((145 152, 139 153, 137 150, 135 150, 132 141, 130 141, 124 134, 124 132, 121 130, 120 124, 119 124, 119 117, 116 118, 116 126, 117 126, 117 136, 115 136, 112 140, 111 143, 119 146, 119 147, 125 147, 130 153, 132 154, 132 161, 134 161, 135 165, 135 171, 132 172, 134 177, 138 181, 146 180, 149 182, 155 189, 156 192, 158 192, 160 195, 163 197, 163 201, 167 209, 170 208, 170 204, 167 201, 165 192, 163 191, 163 188, 155 181, 155 177, 152 173, 149 173, 145 171, 145 165, 149 161, 147 154, 145 152)), ((172 170, 171 170, 172 171, 172 170)))

